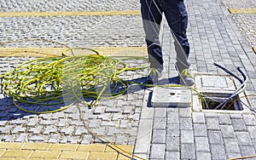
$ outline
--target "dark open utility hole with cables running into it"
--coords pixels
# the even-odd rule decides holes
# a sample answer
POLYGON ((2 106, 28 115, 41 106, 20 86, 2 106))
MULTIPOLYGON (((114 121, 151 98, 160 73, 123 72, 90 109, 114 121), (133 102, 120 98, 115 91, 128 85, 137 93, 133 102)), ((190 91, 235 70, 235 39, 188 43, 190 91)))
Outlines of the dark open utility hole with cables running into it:
POLYGON ((229 100, 222 106, 225 100, 230 97, 231 94, 220 94, 220 93, 204 93, 203 100, 201 103, 204 104, 203 110, 229 110, 229 111, 242 111, 243 107, 241 106, 241 102, 239 96, 236 95, 232 100, 229 100))

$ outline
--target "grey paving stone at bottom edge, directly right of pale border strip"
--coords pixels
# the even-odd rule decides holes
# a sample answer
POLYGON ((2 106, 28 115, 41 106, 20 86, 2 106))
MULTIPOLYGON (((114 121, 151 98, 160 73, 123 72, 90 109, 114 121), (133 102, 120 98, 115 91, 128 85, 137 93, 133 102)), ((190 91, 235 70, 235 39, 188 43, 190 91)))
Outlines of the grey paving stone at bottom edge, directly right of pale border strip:
POLYGON ((164 144, 152 144, 150 151, 150 159, 164 159, 165 158, 165 148, 164 144))

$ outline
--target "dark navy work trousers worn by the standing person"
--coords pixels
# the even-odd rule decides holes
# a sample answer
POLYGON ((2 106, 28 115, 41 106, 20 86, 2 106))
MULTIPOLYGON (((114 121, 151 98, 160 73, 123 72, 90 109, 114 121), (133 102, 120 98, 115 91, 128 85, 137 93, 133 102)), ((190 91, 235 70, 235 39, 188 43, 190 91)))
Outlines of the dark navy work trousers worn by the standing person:
POLYGON ((166 16, 172 30, 177 53, 176 69, 181 72, 190 64, 189 42, 186 35, 188 27, 188 12, 183 0, 140 0, 143 16, 143 27, 148 46, 148 60, 151 68, 163 69, 162 49, 160 46, 160 23, 162 14, 166 16))

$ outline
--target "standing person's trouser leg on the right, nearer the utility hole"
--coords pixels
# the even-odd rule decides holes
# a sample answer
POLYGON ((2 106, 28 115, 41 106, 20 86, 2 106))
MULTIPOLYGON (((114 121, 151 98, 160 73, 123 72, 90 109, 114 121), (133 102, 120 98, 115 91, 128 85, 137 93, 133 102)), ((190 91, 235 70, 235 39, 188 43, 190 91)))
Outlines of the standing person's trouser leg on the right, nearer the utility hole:
POLYGON ((177 71, 182 72, 188 69, 190 64, 189 58, 189 42, 186 35, 188 27, 188 13, 183 0, 164 0, 163 9, 166 15, 168 25, 172 29, 172 36, 175 39, 175 49, 177 52, 177 71))

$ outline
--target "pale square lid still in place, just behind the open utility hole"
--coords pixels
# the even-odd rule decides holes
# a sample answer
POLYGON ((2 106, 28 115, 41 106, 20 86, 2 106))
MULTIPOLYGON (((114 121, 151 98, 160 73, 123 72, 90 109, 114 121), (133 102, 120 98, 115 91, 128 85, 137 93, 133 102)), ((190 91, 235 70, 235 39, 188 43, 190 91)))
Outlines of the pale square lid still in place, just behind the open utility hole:
POLYGON ((234 91, 236 85, 233 78, 230 76, 220 75, 195 75, 195 89, 199 90, 214 90, 234 91))

